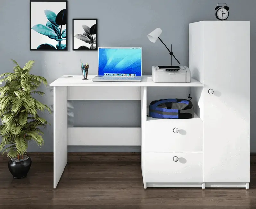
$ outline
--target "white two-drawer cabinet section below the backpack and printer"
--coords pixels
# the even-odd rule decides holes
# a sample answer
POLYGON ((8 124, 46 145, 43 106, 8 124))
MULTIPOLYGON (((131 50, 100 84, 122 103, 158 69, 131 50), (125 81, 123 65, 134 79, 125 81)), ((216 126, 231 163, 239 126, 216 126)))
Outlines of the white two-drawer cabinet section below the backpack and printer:
MULTIPOLYGON (((167 92, 166 98, 180 90, 171 87, 167 92)), ((150 98, 150 91, 146 95, 150 98)), ((204 186, 203 121, 200 117, 196 114, 191 119, 147 117, 142 128, 145 133, 141 143, 144 188, 204 186)))

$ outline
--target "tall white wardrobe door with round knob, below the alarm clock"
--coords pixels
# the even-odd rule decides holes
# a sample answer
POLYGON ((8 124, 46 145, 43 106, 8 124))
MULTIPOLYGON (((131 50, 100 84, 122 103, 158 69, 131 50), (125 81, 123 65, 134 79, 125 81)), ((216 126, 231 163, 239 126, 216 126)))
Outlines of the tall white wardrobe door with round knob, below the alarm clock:
POLYGON ((204 182, 250 181, 250 22, 204 22, 204 182))

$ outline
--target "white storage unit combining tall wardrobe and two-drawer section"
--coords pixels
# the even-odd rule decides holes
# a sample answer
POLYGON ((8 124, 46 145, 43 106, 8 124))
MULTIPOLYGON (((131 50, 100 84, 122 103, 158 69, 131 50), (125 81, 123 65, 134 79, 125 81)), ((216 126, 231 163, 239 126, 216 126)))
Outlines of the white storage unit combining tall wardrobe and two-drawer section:
MULTIPOLYGON (((250 22, 189 24, 189 68, 192 78, 203 87, 191 86, 183 91, 171 88, 168 92, 169 98, 184 92, 180 96, 184 99, 190 93, 195 118, 147 117, 145 121, 143 117, 141 165, 144 188, 248 189, 250 22)), ((144 91, 147 92, 147 88, 144 91)), ((150 98, 149 94, 146 93, 146 97, 150 98)), ((143 105, 145 108, 145 103, 143 105)))

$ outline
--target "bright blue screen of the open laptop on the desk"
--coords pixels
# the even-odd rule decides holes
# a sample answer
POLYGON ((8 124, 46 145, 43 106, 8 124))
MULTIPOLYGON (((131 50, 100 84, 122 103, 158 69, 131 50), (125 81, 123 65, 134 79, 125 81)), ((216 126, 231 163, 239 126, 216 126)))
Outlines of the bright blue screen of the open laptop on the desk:
POLYGON ((141 76, 142 48, 99 48, 98 50, 99 76, 129 76, 130 74, 141 76))

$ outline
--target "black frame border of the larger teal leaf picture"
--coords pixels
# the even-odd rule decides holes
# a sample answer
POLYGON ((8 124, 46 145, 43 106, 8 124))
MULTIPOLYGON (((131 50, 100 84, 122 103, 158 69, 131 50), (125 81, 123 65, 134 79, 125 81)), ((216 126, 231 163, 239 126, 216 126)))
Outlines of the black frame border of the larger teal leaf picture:
MULTIPOLYGON (((39 24, 39 23, 38 23, 39 24)), ((62 36, 62 32, 61 32, 61 36, 62 36)), ((49 36, 48 36, 49 37, 49 36)), ((62 37, 61 37, 62 38, 62 37)), ((67 0, 30 0, 30 51, 68 51, 68 1, 67 0), (65 11, 65 21, 66 21, 66 24, 65 24, 65 26, 66 26, 66 36, 65 36, 65 48, 63 48, 63 49, 61 49, 61 50, 59 50, 59 49, 53 49, 53 48, 39 48, 39 49, 32 49, 32 47, 31 47, 31 30, 32 30, 32 27, 33 26, 31 26, 31 3, 32 2, 51 2, 51 3, 58 3, 58 2, 65 2, 66 4, 66 8, 64 8, 64 9, 66 9, 66 11, 65 11)), ((47 43, 46 43, 47 44, 47 43)), ((41 44, 41 45, 43 45, 43 44, 41 44)))

